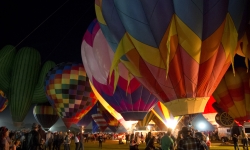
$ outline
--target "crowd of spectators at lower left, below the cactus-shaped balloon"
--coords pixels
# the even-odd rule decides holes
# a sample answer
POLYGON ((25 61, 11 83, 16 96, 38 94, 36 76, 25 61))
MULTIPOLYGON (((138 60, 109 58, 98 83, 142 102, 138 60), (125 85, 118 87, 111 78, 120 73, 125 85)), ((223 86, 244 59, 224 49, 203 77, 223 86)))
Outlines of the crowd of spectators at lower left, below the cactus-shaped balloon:
POLYGON ((81 132, 51 132, 47 133, 37 123, 27 132, 12 132, 6 127, 0 127, 0 150, 70 150, 70 143, 75 139, 75 150, 84 150, 84 138, 81 132))

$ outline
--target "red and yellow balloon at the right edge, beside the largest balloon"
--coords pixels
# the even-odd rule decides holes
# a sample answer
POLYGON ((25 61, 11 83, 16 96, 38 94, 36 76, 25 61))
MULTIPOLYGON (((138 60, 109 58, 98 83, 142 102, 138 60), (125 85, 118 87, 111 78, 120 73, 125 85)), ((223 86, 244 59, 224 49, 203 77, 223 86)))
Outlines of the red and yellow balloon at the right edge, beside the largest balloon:
POLYGON ((219 106, 239 123, 250 120, 250 75, 245 68, 228 70, 213 96, 219 106))

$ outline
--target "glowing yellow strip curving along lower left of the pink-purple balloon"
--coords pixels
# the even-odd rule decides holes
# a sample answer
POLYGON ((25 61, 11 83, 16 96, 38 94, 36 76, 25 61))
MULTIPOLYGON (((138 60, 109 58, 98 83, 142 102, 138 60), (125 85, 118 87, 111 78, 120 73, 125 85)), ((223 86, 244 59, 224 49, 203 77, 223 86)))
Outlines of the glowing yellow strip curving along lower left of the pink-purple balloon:
POLYGON ((111 107, 104 99, 103 97, 98 93, 98 91, 95 89, 93 84, 91 82, 90 86, 93 92, 95 93, 95 96, 97 97, 98 101, 102 104, 102 106, 105 107, 105 109, 113 116, 115 117, 120 124, 124 126, 126 130, 131 130, 133 126, 137 124, 138 121, 125 121, 124 118, 121 116, 120 113, 118 113, 116 110, 114 110, 113 107, 111 107))

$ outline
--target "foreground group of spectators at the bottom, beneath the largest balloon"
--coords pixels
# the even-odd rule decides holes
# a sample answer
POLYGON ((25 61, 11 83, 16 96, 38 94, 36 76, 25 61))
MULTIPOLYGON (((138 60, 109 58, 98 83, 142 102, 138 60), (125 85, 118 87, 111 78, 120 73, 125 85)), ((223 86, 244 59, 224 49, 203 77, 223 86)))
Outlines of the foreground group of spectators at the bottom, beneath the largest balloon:
MULTIPOLYGON (((168 129, 166 133, 160 135, 159 147, 156 147, 156 137, 149 132, 146 135, 145 150, 209 150, 210 141, 206 140, 206 136, 201 132, 195 132, 188 127, 183 127, 178 132, 177 137, 172 134, 172 130, 168 129)), ((130 150, 138 150, 139 143, 134 134, 130 136, 130 150)))

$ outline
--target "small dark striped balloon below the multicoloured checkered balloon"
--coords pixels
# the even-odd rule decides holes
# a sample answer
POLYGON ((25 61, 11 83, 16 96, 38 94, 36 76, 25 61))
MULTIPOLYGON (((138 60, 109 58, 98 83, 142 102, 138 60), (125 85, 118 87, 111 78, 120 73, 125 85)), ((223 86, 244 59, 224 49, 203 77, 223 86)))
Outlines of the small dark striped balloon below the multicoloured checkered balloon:
POLYGON ((49 130, 59 119, 57 112, 50 105, 49 102, 36 104, 33 108, 33 115, 39 124, 45 129, 49 130))

